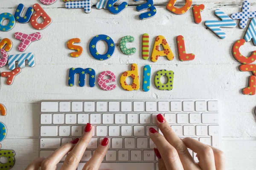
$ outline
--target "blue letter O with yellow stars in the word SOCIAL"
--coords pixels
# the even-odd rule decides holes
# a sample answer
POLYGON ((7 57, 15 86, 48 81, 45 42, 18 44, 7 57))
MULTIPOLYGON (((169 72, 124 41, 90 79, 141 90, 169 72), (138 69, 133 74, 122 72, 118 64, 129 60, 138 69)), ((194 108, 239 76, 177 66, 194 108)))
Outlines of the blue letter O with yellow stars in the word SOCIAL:
POLYGON ((108 37, 107 35, 96 35, 96 37, 94 37, 91 42, 90 42, 90 46, 89 46, 89 50, 90 50, 90 54, 92 54, 92 56, 98 60, 105 60, 105 59, 109 59, 115 52, 115 42, 112 40, 111 37, 108 37), (108 51, 106 54, 99 54, 99 52, 97 51, 97 43, 99 41, 105 41, 108 44, 108 51))

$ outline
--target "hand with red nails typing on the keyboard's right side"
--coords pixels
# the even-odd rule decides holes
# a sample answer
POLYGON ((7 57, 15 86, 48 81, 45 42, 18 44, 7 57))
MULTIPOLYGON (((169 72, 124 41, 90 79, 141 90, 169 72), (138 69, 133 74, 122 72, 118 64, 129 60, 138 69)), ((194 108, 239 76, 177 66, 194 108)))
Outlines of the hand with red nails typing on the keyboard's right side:
POLYGON ((162 114, 157 115, 157 126, 161 135, 154 128, 150 128, 149 136, 157 148, 159 170, 224 170, 224 153, 215 147, 203 144, 192 138, 180 138, 166 122, 162 114), (196 163, 188 148, 197 153, 199 162, 196 163))

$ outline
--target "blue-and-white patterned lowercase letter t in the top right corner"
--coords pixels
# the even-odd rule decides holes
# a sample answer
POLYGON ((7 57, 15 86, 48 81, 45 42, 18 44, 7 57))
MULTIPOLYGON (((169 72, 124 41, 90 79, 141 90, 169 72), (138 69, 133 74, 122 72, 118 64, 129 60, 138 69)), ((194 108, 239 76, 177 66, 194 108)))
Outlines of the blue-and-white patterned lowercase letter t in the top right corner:
POLYGON ((230 15, 233 20, 240 20, 239 27, 245 28, 247 25, 248 18, 255 18, 256 11, 250 11, 250 3, 245 0, 242 5, 242 11, 238 13, 233 13, 230 15))

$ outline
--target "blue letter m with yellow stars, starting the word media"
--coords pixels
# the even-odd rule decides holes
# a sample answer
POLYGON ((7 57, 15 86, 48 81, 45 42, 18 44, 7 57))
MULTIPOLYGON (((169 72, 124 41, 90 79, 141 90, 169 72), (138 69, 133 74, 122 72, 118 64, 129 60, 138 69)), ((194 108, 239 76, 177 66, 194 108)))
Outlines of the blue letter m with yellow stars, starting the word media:
POLYGON ((79 74, 79 86, 84 87, 85 85, 85 76, 86 74, 90 75, 89 85, 90 87, 94 87, 96 83, 96 73, 92 68, 70 68, 69 77, 68 77, 68 85, 73 87, 75 85, 76 74, 79 74))

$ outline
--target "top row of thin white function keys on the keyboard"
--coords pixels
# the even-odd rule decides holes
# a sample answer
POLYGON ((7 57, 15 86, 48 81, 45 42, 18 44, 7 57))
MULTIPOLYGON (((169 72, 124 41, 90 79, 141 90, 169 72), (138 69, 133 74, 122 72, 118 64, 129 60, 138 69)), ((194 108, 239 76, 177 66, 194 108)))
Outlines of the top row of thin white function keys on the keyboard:
POLYGON ((41 102, 41 112, 218 111, 218 101, 41 102))

